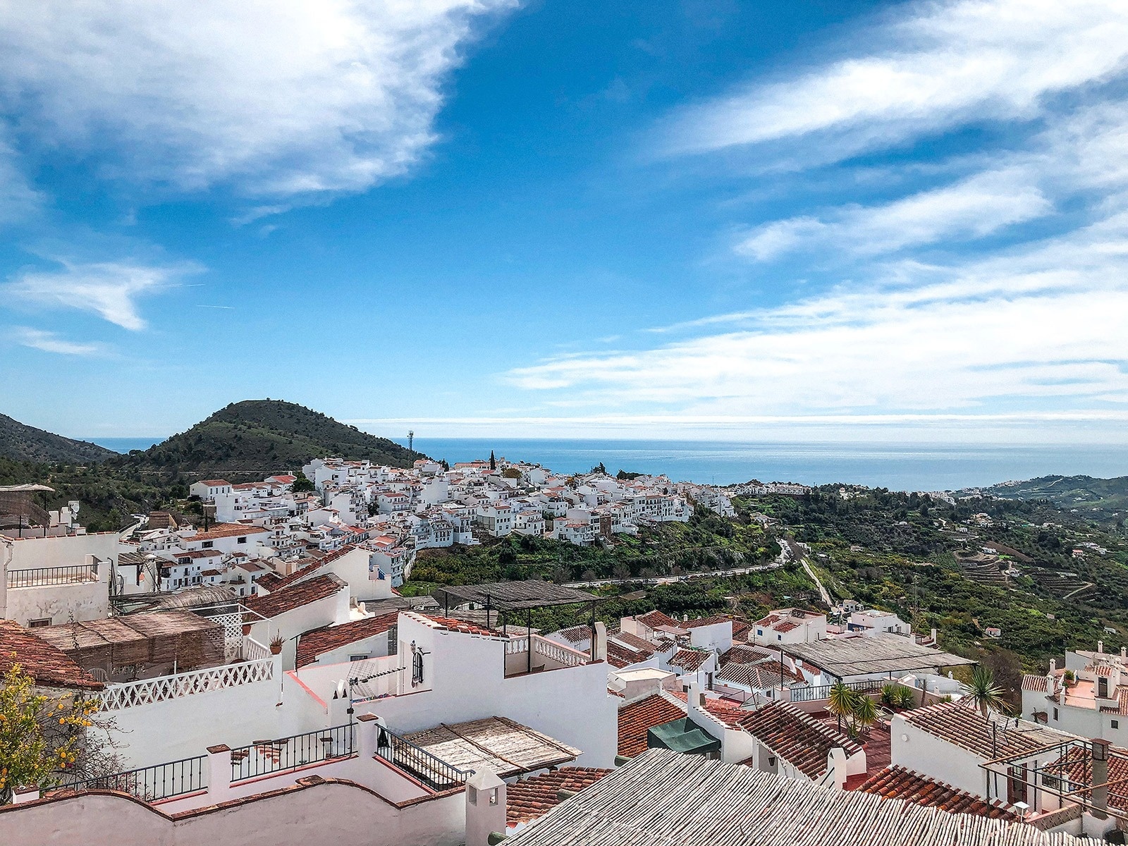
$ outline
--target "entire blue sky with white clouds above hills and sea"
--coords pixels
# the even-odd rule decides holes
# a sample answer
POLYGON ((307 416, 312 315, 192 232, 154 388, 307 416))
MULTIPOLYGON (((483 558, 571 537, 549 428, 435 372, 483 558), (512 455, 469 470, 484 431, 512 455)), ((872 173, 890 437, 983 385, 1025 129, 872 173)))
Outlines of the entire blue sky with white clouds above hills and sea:
POLYGON ((1128 9, 45 2, 0 412, 1128 440, 1128 9))

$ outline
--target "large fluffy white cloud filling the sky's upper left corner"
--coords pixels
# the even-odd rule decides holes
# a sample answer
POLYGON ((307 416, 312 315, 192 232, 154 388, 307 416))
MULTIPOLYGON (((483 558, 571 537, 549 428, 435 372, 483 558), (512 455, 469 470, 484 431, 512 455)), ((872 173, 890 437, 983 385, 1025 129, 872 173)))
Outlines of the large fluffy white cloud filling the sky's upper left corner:
POLYGON ((264 197, 355 191, 434 142, 475 20, 513 0, 83 0, 0 16, 20 133, 103 173, 264 197))

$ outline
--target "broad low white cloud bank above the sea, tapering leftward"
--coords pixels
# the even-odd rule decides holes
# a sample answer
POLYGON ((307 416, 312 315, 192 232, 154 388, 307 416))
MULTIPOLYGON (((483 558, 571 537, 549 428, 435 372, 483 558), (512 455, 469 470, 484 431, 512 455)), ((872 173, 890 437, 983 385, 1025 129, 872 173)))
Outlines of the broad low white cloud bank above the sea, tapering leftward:
POLYGON ((713 325, 725 319, 738 328, 508 379, 687 414, 1128 403, 1128 214, 989 258, 889 265, 882 282, 713 325))

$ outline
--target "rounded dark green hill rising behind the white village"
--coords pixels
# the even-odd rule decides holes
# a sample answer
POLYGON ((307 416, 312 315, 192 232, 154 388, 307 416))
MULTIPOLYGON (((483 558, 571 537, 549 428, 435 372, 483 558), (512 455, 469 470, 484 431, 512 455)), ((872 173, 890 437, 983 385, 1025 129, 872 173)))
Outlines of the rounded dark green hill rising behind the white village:
POLYGON ((147 475, 241 482, 298 470, 324 456, 393 467, 409 467, 423 457, 293 403, 246 399, 143 452, 134 450, 114 459, 109 466, 147 475))

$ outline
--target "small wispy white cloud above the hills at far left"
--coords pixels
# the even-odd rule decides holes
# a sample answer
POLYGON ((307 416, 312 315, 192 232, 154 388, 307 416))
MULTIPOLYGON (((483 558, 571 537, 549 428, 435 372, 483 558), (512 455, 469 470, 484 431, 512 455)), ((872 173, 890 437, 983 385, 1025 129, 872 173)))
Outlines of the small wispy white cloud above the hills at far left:
POLYGON ((195 265, 157 266, 134 262, 78 264, 58 259, 59 271, 26 271, 3 285, 6 296, 44 308, 92 311, 133 332, 146 321, 136 300, 167 289, 195 265))

